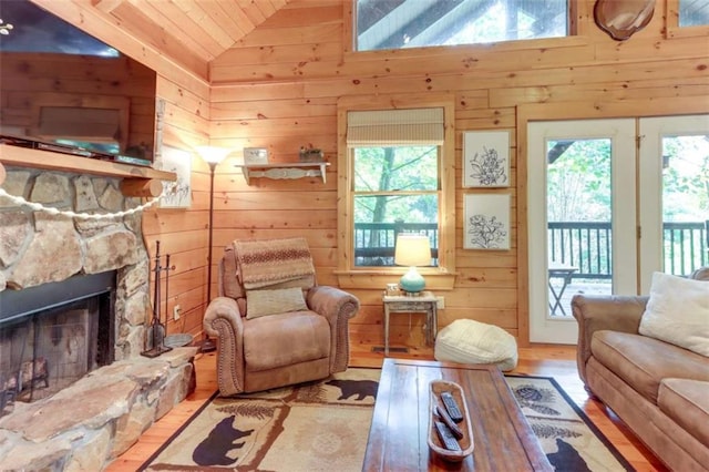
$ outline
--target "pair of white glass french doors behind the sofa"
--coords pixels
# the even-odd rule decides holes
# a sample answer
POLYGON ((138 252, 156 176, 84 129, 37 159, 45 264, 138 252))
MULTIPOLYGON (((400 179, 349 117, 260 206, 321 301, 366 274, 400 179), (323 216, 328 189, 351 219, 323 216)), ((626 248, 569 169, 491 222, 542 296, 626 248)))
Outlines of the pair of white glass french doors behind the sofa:
POLYGON ((530 340, 576 343, 575 294, 709 264, 709 115, 528 124, 530 340))

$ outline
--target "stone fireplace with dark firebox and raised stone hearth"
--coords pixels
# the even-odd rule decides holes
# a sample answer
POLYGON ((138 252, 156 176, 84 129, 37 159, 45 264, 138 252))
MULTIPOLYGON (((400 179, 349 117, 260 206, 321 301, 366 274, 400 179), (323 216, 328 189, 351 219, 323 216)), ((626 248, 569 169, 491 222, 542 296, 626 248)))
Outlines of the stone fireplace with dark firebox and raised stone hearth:
POLYGON ((174 349, 155 359, 140 355, 151 347, 146 326, 152 315, 142 214, 93 219, 65 213, 115 214, 141 205, 140 198, 123 196, 120 183, 113 177, 24 167, 7 167, 6 181, 0 182, 9 195, 43 207, 28 208, 0 195, 3 466, 100 470, 193 388, 196 348, 174 349), (101 275, 113 279, 107 310, 105 296, 54 302, 41 291, 60 285, 70 287, 58 290, 65 295, 73 290, 72 284, 85 287, 89 278, 101 275), (20 297, 35 290, 40 295, 20 297), (63 302, 68 305, 58 308, 63 302), (7 367, 9 355, 18 357, 28 349, 34 353, 7 367), (85 373, 54 374, 60 362, 62 372, 85 369, 85 373), (83 366, 74 366, 79 363, 83 366), (54 391, 54 387, 61 388, 54 391), (48 388, 52 391, 45 396, 48 388), (14 401, 24 400, 23 396, 32 397, 32 402, 14 401), (7 401, 9 397, 13 401, 7 401))

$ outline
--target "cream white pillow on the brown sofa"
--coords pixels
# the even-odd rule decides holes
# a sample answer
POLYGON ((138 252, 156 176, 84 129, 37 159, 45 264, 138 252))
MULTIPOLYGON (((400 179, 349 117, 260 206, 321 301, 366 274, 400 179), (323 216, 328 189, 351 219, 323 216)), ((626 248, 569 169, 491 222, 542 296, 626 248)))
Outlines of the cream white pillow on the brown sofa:
POLYGON ((639 332, 709 357, 709 283, 653 274, 639 332))

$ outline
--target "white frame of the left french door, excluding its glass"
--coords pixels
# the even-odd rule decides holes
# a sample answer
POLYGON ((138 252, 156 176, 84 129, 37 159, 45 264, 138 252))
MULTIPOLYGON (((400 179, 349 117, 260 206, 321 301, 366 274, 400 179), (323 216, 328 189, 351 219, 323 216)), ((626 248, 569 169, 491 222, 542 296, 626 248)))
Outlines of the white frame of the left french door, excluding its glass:
POLYGON ((575 345, 578 339, 578 326, 571 314, 561 318, 548 312, 546 142, 568 137, 613 141, 613 287, 615 294, 634 295, 637 293, 635 135, 635 119, 527 124, 530 341, 575 345))

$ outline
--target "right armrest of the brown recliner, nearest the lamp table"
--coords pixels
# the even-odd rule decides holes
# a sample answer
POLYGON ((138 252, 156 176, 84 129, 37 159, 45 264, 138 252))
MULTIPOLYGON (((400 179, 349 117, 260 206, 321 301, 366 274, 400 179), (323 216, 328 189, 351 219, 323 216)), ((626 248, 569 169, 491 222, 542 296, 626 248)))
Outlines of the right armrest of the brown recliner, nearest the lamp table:
POLYGON ((339 288, 316 286, 308 290, 306 302, 330 324, 330 373, 347 370, 350 360, 349 319, 359 311, 359 300, 339 288))

